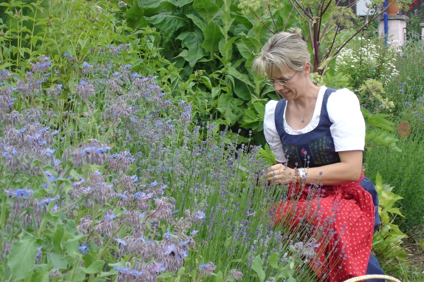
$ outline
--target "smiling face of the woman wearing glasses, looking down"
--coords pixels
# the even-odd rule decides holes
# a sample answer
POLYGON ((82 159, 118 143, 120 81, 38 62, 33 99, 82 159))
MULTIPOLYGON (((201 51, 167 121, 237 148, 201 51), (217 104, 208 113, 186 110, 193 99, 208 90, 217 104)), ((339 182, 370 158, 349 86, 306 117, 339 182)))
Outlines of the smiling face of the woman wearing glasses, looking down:
POLYGON ((272 76, 270 76, 270 79, 275 81, 274 90, 285 100, 295 100, 305 92, 305 86, 307 84, 305 69, 297 72, 294 69, 283 67, 281 70, 276 69, 272 73, 272 76))

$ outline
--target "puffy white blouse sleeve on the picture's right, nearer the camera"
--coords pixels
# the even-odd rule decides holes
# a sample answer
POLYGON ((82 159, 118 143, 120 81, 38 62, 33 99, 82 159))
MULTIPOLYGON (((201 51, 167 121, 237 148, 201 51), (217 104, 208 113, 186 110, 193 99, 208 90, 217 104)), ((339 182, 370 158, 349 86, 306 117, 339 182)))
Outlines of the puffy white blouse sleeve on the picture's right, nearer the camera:
POLYGON ((347 88, 339 89, 328 98, 327 111, 336 152, 364 150, 365 121, 358 97, 347 88))

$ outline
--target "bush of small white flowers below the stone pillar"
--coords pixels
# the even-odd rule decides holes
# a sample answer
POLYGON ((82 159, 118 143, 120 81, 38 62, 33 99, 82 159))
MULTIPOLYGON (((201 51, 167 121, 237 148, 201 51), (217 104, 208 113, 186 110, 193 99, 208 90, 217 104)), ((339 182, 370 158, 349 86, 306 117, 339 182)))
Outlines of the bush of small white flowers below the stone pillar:
POLYGON ((344 47, 338 54, 335 69, 346 75, 361 76, 360 80, 374 78, 385 84, 391 77, 399 75, 395 66, 395 49, 378 46, 364 37, 355 37, 350 47, 344 47))

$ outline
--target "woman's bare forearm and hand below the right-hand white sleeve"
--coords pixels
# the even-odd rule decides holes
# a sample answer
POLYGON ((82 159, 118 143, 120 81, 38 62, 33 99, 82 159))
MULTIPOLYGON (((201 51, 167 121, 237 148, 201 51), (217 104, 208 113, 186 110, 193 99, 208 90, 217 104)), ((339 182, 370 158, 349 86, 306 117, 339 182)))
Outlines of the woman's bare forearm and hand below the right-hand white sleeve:
MULTIPOLYGON (((340 163, 310 169, 305 168, 307 172, 306 183, 337 185, 359 180, 362 171, 362 153, 361 150, 338 152, 340 163)), ((295 169, 286 168, 284 164, 277 163, 271 166, 269 172, 265 174, 265 178, 268 182, 289 184, 296 181, 295 174, 295 169)))

